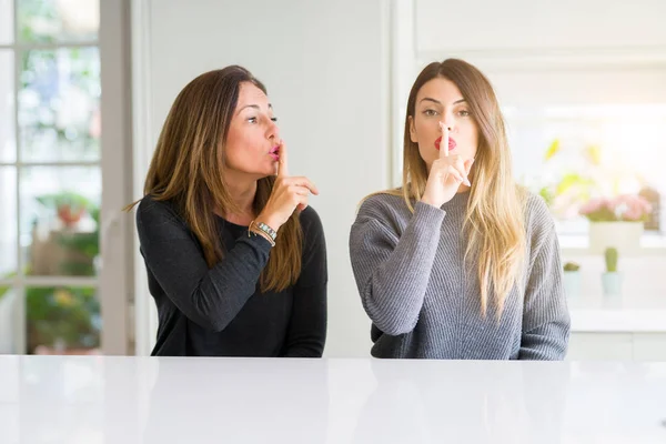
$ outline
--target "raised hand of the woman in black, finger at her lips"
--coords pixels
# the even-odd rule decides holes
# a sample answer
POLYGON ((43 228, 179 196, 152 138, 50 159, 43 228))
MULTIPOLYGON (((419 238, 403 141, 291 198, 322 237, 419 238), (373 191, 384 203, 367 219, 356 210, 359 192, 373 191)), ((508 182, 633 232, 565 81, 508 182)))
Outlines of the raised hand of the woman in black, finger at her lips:
POLYGON ((280 142, 278 178, 273 191, 258 222, 263 222, 278 231, 292 215, 294 210, 303 211, 307 206, 310 193, 319 194, 316 186, 307 178, 290 176, 287 172, 287 152, 284 141, 280 142))

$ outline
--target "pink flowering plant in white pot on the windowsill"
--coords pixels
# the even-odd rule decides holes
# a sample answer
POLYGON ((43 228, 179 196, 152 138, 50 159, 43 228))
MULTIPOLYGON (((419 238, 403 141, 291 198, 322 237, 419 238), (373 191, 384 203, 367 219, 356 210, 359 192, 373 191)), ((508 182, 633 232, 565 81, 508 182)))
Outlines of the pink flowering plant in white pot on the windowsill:
POLYGON ((620 254, 637 253, 650 211, 649 202, 636 194, 589 200, 579 212, 589 221, 591 253, 602 253, 608 246, 620 254))

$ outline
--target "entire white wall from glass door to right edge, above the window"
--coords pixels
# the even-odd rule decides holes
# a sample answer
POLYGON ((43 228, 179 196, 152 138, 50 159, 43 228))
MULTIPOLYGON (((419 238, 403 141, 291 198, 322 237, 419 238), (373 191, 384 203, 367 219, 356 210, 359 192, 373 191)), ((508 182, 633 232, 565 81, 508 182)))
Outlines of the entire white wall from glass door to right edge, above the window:
MULTIPOLYGON (((371 345, 349 229, 363 195, 396 183, 404 101, 421 65, 462 57, 516 105, 666 102, 663 0, 135 0, 133 12, 135 194, 182 87, 231 63, 253 71, 280 117, 292 172, 322 191, 312 204, 329 244, 327 356, 365 356, 371 345)), ((142 266, 139 324, 152 315, 138 332, 145 353, 154 307, 142 266)))

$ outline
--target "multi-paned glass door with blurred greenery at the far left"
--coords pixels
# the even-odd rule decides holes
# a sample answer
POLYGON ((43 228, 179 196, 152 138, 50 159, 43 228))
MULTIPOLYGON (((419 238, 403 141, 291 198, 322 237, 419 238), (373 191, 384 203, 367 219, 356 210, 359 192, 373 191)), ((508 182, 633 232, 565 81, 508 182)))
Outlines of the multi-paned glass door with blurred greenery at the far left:
POLYGON ((100 345, 99 17, 0 0, 0 353, 100 345))

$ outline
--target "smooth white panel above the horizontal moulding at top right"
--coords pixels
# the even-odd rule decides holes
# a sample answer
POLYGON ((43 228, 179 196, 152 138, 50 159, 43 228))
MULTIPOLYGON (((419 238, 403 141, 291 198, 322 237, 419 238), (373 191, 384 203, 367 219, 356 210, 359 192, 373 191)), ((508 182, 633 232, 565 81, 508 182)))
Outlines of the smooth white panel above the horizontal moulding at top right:
POLYGON ((414 0, 420 52, 640 48, 666 40, 666 2, 414 0))

